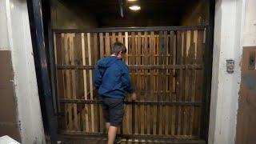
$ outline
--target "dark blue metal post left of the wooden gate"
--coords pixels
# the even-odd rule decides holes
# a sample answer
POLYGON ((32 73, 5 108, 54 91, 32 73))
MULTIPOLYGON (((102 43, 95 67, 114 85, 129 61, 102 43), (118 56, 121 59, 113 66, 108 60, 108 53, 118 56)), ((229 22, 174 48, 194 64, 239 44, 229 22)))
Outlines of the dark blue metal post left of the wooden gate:
POLYGON ((54 117, 54 103, 42 23, 41 1, 27 0, 27 6, 44 128, 46 134, 50 136, 50 142, 57 143, 57 121, 54 117))

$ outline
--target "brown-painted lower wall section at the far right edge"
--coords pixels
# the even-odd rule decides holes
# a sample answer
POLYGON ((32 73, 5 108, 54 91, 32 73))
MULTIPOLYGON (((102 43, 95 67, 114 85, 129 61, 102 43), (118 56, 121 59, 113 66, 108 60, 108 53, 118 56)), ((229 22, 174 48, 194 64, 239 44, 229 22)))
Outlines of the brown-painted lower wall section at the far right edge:
POLYGON ((243 47, 242 75, 238 104, 237 144, 256 142, 256 70, 250 55, 255 54, 256 46, 243 47), (254 69, 250 69, 250 65, 254 69))

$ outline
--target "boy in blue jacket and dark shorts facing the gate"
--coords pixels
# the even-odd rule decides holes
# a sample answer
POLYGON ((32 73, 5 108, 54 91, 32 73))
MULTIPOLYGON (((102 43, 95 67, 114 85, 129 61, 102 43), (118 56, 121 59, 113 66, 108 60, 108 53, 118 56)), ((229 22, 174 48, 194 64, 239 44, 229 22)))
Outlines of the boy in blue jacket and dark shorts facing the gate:
POLYGON ((122 62, 124 54, 126 54, 126 47, 121 42, 115 42, 111 47, 111 55, 97 62, 94 74, 94 86, 102 98, 108 144, 114 143, 118 127, 122 124, 126 92, 131 94, 133 100, 137 97, 130 82, 128 67, 122 62))

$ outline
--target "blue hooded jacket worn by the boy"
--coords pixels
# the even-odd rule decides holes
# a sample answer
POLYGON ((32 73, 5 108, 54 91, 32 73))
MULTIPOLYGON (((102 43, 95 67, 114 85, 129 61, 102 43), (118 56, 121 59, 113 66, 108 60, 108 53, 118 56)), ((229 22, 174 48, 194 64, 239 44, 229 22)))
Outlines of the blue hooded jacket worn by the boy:
POLYGON ((94 86, 101 97, 125 98, 126 92, 133 92, 126 63, 118 57, 110 56, 97 62, 94 86))

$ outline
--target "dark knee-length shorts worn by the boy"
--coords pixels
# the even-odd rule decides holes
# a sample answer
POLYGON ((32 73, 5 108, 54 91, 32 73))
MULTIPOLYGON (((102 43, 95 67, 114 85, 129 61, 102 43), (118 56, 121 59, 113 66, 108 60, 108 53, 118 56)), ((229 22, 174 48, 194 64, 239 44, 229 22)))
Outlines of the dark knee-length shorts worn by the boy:
POLYGON ((122 98, 102 98, 103 117, 110 126, 121 126, 123 110, 122 98))

